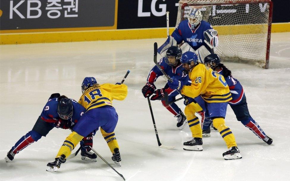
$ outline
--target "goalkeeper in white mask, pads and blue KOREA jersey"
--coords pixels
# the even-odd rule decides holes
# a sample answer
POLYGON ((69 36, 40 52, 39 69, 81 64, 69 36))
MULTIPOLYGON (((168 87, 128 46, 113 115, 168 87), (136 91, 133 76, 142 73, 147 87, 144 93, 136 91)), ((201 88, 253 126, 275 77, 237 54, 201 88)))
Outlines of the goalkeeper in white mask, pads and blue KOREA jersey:
POLYGON ((213 48, 218 46, 218 32, 202 20, 200 10, 193 9, 187 19, 181 21, 166 42, 158 48, 158 53, 164 57, 166 50, 173 45, 180 45, 182 52, 195 52, 199 61, 203 62, 204 57, 213 53, 213 48))

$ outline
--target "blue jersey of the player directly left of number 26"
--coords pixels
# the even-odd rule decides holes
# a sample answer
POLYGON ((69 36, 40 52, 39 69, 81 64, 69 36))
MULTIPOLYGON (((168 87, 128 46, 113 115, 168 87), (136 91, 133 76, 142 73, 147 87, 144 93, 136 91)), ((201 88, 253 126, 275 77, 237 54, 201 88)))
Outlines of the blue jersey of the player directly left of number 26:
MULTIPOLYGON (((166 57, 163 57, 162 59, 160 59, 159 64, 160 67, 162 68, 162 70, 165 71, 165 73, 170 77, 170 78, 175 78, 177 80, 180 80, 183 82, 183 84, 191 84, 190 78, 188 77, 187 74, 182 72, 182 64, 179 63, 177 64, 175 67, 171 67, 170 65, 168 65, 165 62, 166 57)), ((156 79, 160 76, 163 75, 163 73, 161 72, 161 70, 155 65, 149 72, 148 78, 147 78, 147 82, 149 83, 154 83, 156 81, 156 79)), ((173 89, 166 89, 165 90, 168 94, 168 96, 176 96, 179 93, 176 90, 173 89)))

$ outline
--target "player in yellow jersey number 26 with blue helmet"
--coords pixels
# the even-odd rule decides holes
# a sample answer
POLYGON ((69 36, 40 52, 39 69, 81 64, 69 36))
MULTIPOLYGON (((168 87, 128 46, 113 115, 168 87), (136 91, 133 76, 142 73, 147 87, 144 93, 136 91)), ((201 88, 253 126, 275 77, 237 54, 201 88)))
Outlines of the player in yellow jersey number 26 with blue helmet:
MULTIPOLYGON (((228 88, 224 77, 202 63, 198 63, 198 58, 193 52, 182 54, 180 61, 185 73, 188 73, 192 83, 189 86, 183 86, 181 81, 176 79, 173 82, 168 81, 171 89, 177 89, 187 97, 201 97, 205 101, 205 106, 213 125, 218 129, 220 135, 228 146, 228 151, 223 153, 225 160, 242 158, 237 147, 235 137, 225 124, 227 102, 232 99, 231 92, 228 88)), ((191 99, 189 99, 191 100, 191 99)), ((191 151, 202 151, 202 130, 198 117, 195 112, 201 111, 200 106, 188 102, 185 107, 185 115, 192 132, 193 139, 185 142, 183 149, 191 151), (199 109, 199 110, 198 110, 199 109)))

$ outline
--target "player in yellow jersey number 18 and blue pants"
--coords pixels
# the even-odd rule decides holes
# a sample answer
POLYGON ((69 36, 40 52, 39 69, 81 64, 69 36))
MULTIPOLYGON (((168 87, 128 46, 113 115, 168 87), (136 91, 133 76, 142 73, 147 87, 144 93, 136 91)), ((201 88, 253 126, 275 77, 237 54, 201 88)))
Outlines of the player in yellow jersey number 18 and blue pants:
POLYGON ((112 100, 124 100, 127 96, 125 84, 97 84, 94 77, 86 77, 83 80, 82 96, 78 103, 86 108, 86 112, 75 124, 74 131, 64 141, 59 149, 54 162, 47 164, 47 171, 56 171, 63 160, 71 154, 77 143, 93 130, 101 127, 101 133, 113 154, 112 160, 121 166, 119 145, 114 130, 118 122, 118 114, 113 107, 112 100))

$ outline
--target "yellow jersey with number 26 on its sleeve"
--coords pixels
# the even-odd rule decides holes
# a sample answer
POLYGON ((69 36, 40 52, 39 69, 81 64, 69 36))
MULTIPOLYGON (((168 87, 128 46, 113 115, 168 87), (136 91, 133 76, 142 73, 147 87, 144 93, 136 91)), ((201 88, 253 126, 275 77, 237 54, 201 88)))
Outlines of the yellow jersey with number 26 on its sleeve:
POLYGON ((201 97, 208 103, 223 103, 232 99, 230 89, 223 75, 199 63, 188 74, 192 83, 183 86, 181 93, 188 97, 201 97))

